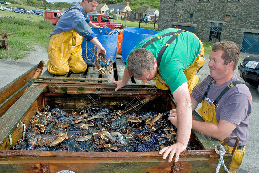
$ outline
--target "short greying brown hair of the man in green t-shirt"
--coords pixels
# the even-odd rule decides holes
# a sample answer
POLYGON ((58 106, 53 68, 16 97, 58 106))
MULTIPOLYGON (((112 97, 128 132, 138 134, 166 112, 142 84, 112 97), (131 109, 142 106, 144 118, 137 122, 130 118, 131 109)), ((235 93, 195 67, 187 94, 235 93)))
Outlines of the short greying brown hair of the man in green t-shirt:
POLYGON ((142 77, 154 70, 154 55, 147 49, 135 49, 127 59, 130 73, 136 77, 142 77))

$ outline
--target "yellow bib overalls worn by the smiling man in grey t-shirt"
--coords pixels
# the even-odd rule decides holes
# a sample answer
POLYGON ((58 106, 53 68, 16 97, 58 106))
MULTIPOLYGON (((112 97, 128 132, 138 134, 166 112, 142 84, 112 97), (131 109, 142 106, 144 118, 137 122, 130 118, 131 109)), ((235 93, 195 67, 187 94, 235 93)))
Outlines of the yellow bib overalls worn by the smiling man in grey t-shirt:
MULTIPOLYGON (((211 84, 213 83, 213 79, 210 83, 210 85, 208 86, 207 88, 207 91, 209 91, 209 88, 211 86, 211 84)), ((231 83, 232 84, 232 83, 231 83)), ((229 85, 230 87, 234 86, 234 85, 229 85)), ((230 88, 229 87, 229 88, 230 88)), ((204 97, 202 99, 202 107, 198 110, 199 114, 201 115, 202 119, 204 120, 204 122, 209 122, 209 123, 214 123, 214 124, 218 124, 218 121, 217 121, 217 118, 216 118, 216 111, 215 111, 215 108, 216 108, 216 105, 217 105, 217 101, 219 100, 218 98, 215 100, 215 101, 212 103, 212 105, 210 105, 207 101, 206 101, 206 98, 207 98, 207 93, 204 94, 204 97), (214 104, 215 103, 215 104, 214 104)), ((220 97, 221 98, 221 97, 220 97)), ((227 144, 224 145, 227 150, 229 152, 232 152, 233 150, 233 147, 230 147, 228 146, 227 144)), ((242 160, 243 160, 243 155, 245 154, 245 146, 244 148, 242 149, 239 149, 239 150, 235 150, 234 152, 234 155, 233 155, 233 159, 232 159, 232 162, 230 164, 230 167, 229 167, 229 172, 231 173, 235 173, 236 170, 240 167, 241 163, 242 163, 242 160)))

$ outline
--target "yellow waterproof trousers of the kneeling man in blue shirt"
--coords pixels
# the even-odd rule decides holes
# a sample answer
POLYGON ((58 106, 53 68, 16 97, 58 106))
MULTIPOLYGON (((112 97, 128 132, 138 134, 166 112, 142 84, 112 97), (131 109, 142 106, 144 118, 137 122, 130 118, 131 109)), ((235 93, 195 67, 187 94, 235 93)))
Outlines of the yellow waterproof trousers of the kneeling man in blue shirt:
POLYGON ((69 71, 84 72, 87 64, 82 58, 82 42, 83 37, 74 30, 52 35, 48 45, 48 71, 57 75, 67 74, 69 71))

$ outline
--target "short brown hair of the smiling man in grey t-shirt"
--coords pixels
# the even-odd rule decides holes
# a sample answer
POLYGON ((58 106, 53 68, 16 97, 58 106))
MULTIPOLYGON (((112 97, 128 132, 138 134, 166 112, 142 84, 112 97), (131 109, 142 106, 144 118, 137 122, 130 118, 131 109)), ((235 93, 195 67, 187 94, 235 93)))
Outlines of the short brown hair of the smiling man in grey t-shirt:
POLYGON ((233 41, 223 40, 216 42, 212 46, 212 51, 216 52, 218 50, 223 50, 222 59, 224 60, 224 65, 227 65, 231 61, 234 62, 233 71, 236 69, 237 62, 239 60, 240 50, 238 45, 233 41))

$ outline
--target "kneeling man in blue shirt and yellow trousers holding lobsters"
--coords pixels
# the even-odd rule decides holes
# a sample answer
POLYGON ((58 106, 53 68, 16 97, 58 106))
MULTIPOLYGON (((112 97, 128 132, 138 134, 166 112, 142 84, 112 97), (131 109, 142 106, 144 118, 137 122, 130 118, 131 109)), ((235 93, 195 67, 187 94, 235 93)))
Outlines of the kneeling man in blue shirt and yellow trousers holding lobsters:
MULTIPOLYGON (((80 73, 86 70, 87 64, 82 58, 81 44, 83 38, 91 41, 99 53, 106 55, 106 50, 98 41, 92 28, 102 28, 90 21, 87 13, 95 10, 100 0, 83 0, 74 4, 59 19, 50 34, 47 69, 52 74, 63 75, 72 71, 80 73)), ((83 48, 85 49, 85 48, 83 48)))

